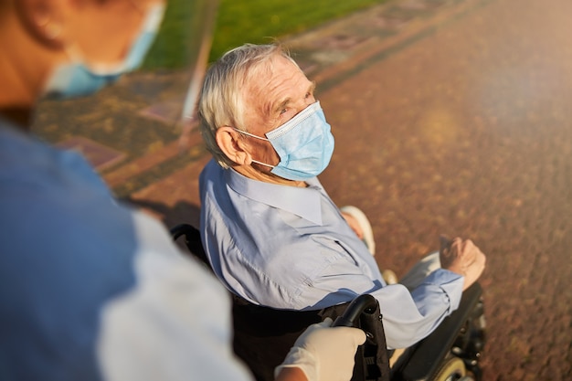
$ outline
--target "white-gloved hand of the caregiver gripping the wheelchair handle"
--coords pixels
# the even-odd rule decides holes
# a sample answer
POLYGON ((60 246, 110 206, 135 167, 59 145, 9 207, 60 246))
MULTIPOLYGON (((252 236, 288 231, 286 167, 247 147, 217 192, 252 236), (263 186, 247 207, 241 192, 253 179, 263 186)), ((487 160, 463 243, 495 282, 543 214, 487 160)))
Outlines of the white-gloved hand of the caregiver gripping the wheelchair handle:
POLYGON ((289 367, 298 367, 308 381, 348 381, 352 378, 357 346, 365 343, 364 331, 349 327, 330 327, 332 319, 309 326, 291 347, 274 375, 277 380, 289 367))

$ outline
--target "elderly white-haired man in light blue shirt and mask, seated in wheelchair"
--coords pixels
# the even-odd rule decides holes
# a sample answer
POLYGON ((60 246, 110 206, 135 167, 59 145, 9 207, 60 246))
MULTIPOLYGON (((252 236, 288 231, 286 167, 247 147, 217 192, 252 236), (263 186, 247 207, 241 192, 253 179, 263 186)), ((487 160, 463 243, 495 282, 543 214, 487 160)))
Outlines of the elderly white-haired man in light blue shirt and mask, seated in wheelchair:
POLYGON ((279 309, 318 310, 371 293, 387 345, 415 344, 458 307, 485 257, 455 238, 418 264, 408 287, 387 285, 316 177, 334 136, 313 90, 277 45, 235 48, 208 70, 199 116, 214 160, 200 191, 211 265, 228 290, 279 309))

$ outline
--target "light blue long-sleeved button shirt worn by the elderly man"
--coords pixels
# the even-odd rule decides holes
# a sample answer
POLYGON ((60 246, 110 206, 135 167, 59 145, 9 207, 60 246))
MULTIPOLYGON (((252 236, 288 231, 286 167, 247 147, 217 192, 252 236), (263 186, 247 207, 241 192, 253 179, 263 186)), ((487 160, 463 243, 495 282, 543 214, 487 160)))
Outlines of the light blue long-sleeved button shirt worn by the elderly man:
POLYGON ((319 310, 370 293, 390 348, 417 343, 459 306, 463 278, 449 270, 433 271, 413 291, 387 286, 317 177, 306 183, 274 185, 207 164, 200 175, 201 234, 228 290, 290 310, 319 310))

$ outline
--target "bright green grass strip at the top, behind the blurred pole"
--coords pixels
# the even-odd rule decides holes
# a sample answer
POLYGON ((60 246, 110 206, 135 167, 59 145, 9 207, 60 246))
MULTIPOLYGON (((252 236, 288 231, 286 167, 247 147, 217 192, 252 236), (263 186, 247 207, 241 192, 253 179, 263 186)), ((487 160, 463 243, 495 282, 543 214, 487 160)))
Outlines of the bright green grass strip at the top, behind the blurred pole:
MULTIPOLYGON (((185 65, 188 48, 181 48, 192 20, 189 0, 170 0, 164 26, 143 69, 185 65)), ((208 0, 207 0, 208 1, 208 0)), ((209 61, 244 43, 269 43, 319 26, 387 0, 220 0, 209 61)))

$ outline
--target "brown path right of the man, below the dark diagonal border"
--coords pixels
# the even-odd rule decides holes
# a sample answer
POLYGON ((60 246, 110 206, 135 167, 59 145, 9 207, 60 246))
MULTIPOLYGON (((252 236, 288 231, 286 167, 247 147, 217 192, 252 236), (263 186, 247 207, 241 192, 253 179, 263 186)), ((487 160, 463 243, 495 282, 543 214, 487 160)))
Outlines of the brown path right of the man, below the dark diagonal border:
POLYGON ((321 179, 367 211, 383 268, 441 233, 487 254, 485 379, 569 380, 572 3, 471 3, 321 94, 321 179))

